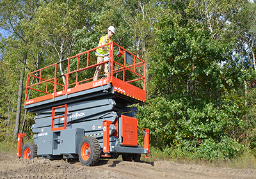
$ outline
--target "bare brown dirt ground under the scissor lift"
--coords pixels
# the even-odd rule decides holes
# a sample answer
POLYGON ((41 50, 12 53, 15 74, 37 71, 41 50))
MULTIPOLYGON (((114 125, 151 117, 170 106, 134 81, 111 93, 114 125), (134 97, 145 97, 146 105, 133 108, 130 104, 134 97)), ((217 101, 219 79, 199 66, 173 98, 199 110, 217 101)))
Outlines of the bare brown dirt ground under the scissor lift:
POLYGON ((13 153, 0 153, 0 178, 256 178, 255 169, 213 168, 176 164, 100 160, 85 167, 78 160, 19 159, 13 153))

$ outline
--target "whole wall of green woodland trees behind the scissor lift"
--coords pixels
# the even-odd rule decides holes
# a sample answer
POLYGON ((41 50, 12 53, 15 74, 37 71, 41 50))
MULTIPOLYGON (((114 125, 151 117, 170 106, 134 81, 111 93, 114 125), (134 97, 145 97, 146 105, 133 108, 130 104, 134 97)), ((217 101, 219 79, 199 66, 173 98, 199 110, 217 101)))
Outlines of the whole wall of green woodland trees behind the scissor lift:
MULTIPOLYGON (((33 114, 17 107, 19 91, 24 99, 24 76, 97 47, 112 25, 113 41, 147 63, 147 102, 137 105, 137 118, 140 128, 150 128, 152 146, 191 159, 256 153, 255 2, 4 0, 0 5, 0 28, 8 31, 0 41, 0 140, 13 132, 15 116, 22 123, 18 129, 31 135, 33 114)), ((60 74, 66 69, 60 66, 60 74)))

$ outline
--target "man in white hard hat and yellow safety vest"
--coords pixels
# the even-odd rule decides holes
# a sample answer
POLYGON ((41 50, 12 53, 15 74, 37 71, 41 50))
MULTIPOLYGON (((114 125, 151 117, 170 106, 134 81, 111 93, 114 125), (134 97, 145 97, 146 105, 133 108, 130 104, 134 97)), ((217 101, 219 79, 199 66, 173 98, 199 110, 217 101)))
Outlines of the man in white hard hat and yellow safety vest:
MULTIPOLYGON (((104 45, 106 43, 112 42, 111 37, 114 34, 115 34, 115 28, 113 26, 109 26, 108 34, 106 36, 100 37, 100 42, 99 42, 98 47, 101 45, 104 45)), ((97 63, 102 63, 104 61, 104 56, 109 54, 109 45, 97 49, 95 54, 97 56, 97 63)), ((101 71, 102 67, 104 67, 105 76, 108 77, 108 64, 104 63, 104 64, 96 67, 96 70, 95 70, 95 73, 93 76, 93 81, 96 81, 97 79, 99 79, 99 75, 100 75, 100 71, 101 71)))

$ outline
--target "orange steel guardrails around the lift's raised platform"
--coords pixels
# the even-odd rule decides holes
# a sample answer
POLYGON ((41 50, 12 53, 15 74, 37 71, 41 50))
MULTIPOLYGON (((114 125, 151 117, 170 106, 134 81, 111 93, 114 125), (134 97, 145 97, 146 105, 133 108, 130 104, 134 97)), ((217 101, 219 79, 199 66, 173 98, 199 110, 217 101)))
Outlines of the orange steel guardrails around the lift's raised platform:
MULTIPOLYGON (((54 97, 59 97, 61 95, 65 95, 65 94, 69 94, 69 93, 76 93, 77 90, 79 89, 77 87, 82 85, 81 84, 82 82, 92 81, 92 79, 93 79, 93 77, 92 77, 90 79, 85 79, 83 81, 78 81, 78 73, 82 72, 84 70, 88 70, 90 68, 95 68, 98 65, 103 65, 104 63, 109 63, 109 66, 110 66, 110 68, 108 68, 108 70, 109 70, 109 73, 108 73, 109 77, 105 79, 105 80, 107 80, 108 83, 111 83, 111 82, 115 81, 115 77, 113 77, 113 74, 115 74, 116 72, 118 72, 118 73, 119 72, 123 72, 123 79, 122 79, 122 81, 127 82, 127 83, 131 83, 131 82, 134 82, 134 81, 141 81, 141 80, 143 80, 143 91, 145 91, 146 90, 145 61, 143 61, 142 59, 138 58, 137 56, 135 56, 134 54, 129 52, 129 54, 131 54, 131 56, 133 57, 133 62, 132 62, 133 64, 132 65, 127 65, 127 62, 126 62, 127 59, 126 59, 126 56, 125 56, 125 54, 127 52, 128 51, 126 51, 120 45, 117 45, 115 42, 109 42, 109 43, 106 43, 105 45, 101 45, 100 47, 96 47, 96 48, 91 49, 89 51, 85 51, 85 52, 82 52, 80 54, 77 54, 76 56, 72 56, 72 57, 68 58, 67 60, 65 60, 65 61, 68 61, 67 74, 64 74, 64 76, 66 77, 66 84, 60 84, 60 83, 57 82, 57 79, 58 79, 58 77, 57 77, 58 68, 57 67, 58 67, 58 64, 63 63, 63 61, 62 62, 58 62, 58 63, 54 63, 52 65, 49 65, 49 66, 46 66, 46 67, 41 68, 39 70, 36 70, 35 72, 29 73, 27 75, 27 82, 26 82, 25 105, 33 104, 35 102, 40 102, 40 101, 43 101, 43 100, 48 100, 48 99, 51 99, 51 98, 54 98, 54 97), (95 51, 96 49, 102 48, 102 47, 104 47, 106 45, 110 46, 109 60, 108 61, 103 61, 102 63, 97 63, 97 64, 89 66, 89 53, 95 51), (113 54, 114 45, 116 47, 120 48, 120 51, 121 51, 120 54, 124 53, 124 65, 114 61, 114 54, 113 54), (84 68, 80 68, 79 69, 79 56, 84 55, 84 54, 87 54, 87 61, 86 61, 87 63, 86 63, 86 66, 84 68), (70 72, 70 60, 74 59, 74 58, 76 58, 76 61, 77 61, 76 70, 70 72), (138 63, 136 63, 136 59, 137 59, 137 61, 139 61, 138 63), (119 66, 119 68, 117 70, 115 70, 113 68, 114 63, 119 66), (45 70, 45 69, 50 68, 52 66, 54 66, 54 68, 55 68, 54 77, 52 77, 51 79, 44 79, 44 78, 42 78, 42 70, 45 70), (136 68, 138 68, 140 66, 143 66, 143 74, 138 74, 138 72, 136 72, 136 68), (138 77, 136 79, 125 81, 125 71, 130 71, 130 72, 132 72, 132 74, 136 74, 138 77), (39 77, 36 76, 35 73, 40 74, 39 77), (68 84, 68 77, 69 77, 69 75, 70 74, 74 74, 74 73, 76 73, 76 82, 74 82, 72 84, 68 84), (39 82, 37 82, 36 84, 29 85, 29 77, 34 77, 34 78, 38 79, 39 82), (49 91, 48 91, 49 90, 48 89, 49 82, 54 84, 53 93, 49 93, 49 91), (39 90, 39 89, 35 89, 34 86, 38 86, 38 85, 44 84, 44 83, 46 83, 45 91, 42 91, 42 90, 39 90), (71 88, 72 90, 68 89, 68 86, 71 86, 71 85, 74 85, 74 84, 76 85, 76 89, 72 89, 72 88, 71 88), (61 86, 61 88, 63 88, 63 90, 57 91, 57 86, 61 86), (45 93, 45 95, 42 96, 42 97, 28 99, 28 91, 29 91, 29 89, 32 89, 32 90, 35 90, 35 91, 38 91, 38 92, 41 92, 41 93, 45 93)), ((61 77, 61 76, 63 76, 63 75, 60 75, 59 77, 61 77)), ((100 80, 98 80, 98 81, 100 81, 100 80)), ((80 91, 82 91, 82 90, 84 90, 86 88, 87 89, 93 88, 93 86, 92 85, 91 86, 84 85, 83 89, 80 88, 80 91)), ((140 96, 140 94, 138 94, 137 96, 140 96)))

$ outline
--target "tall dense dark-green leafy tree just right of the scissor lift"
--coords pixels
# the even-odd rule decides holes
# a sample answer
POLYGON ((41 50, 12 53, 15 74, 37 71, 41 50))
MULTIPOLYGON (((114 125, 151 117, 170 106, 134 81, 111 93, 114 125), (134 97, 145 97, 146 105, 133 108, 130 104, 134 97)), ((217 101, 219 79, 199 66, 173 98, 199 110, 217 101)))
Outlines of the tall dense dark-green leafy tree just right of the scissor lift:
POLYGON ((224 66, 235 44, 226 38, 228 21, 241 3, 172 1, 161 11, 148 70, 152 99, 139 114, 158 148, 209 160, 241 153, 244 123, 225 69, 233 66, 224 66))

